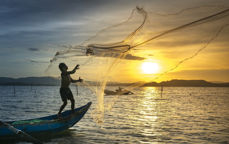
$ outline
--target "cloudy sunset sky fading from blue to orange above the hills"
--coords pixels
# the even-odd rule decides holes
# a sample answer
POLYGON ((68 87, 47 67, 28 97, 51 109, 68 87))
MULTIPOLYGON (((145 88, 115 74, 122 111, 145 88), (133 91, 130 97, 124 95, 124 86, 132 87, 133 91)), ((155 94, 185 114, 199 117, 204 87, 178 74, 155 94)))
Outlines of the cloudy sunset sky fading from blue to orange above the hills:
POLYGON ((73 77, 81 76, 86 80, 107 76, 109 81, 121 82, 170 79, 229 81, 229 26, 218 33, 223 25, 228 24, 229 16, 226 15, 163 35, 132 49, 126 58, 115 63, 105 51, 98 50, 99 57, 92 58, 82 51, 74 51, 71 56, 59 57, 46 71, 57 51, 74 50, 85 40, 90 39, 84 43, 84 48, 89 44, 120 41, 133 46, 227 9, 228 0, 117 0, 99 4, 94 1, 71 4, 63 1, 56 2, 52 10, 43 2, 26 3, 22 0, 21 3, 4 3, 0 11, 3 14, 0 24, 1 77, 59 76, 58 64, 65 62, 69 68, 81 64, 81 69, 73 77), (136 6, 147 12, 147 20, 140 31, 125 39, 143 21, 142 13, 136 12, 136 6), (135 13, 131 17, 133 9, 135 13), (217 37, 207 44, 216 34, 217 37), (181 60, 205 46, 197 56, 173 69, 181 60), (141 65, 145 61, 158 63, 158 74, 144 74, 141 65), (112 63, 114 68, 108 72, 112 63), (164 72, 167 73, 161 75, 164 72), (160 77, 155 79, 158 75, 160 77))

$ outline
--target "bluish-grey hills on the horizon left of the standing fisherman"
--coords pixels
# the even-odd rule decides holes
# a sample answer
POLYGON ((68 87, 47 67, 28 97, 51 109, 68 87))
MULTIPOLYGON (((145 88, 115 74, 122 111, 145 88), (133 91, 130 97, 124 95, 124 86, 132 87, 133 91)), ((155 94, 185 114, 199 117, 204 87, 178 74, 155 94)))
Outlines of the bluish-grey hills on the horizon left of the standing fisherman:
POLYGON ((60 85, 60 80, 54 77, 0 77, 0 85, 60 85))

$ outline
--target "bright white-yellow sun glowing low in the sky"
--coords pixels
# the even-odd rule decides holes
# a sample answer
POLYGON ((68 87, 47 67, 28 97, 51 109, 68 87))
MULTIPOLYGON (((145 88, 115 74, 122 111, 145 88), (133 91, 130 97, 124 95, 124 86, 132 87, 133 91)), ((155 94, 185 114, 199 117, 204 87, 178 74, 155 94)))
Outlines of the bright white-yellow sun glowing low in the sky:
POLYGON ((153 62, 143 62, 141 68, 144 74, 155 74, 159 72, 159 65, 153 62))

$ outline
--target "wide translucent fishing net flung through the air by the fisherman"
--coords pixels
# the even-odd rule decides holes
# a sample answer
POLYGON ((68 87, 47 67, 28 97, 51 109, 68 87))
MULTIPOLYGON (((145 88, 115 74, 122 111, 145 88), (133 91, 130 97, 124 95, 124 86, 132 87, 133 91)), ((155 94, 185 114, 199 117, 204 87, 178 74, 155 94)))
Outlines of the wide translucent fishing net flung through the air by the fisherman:
POLYGON ((63 61, 70 67, 80 64, 78 75, 85 80, 82 86, 97 95, 93 117, 102 122, 104 112, 117 99, 104 104, 108 83, 134 82, 125 87, 134 91, 144 79, 169 80, 174 78, 171 73, 175 71, 209 66, 205 59, 215 58, 209 51, 225 50, 226 44, 221 42, 227 39, 228 15, 229 9, 224 6, 200 6, 176 12, 136 7, 126 20, 102 29, 81 44, 56 52, 49 69, 56 69, 63 61), (160 72, 151 75, 138 72, 144 61, 158 63, 160 72))

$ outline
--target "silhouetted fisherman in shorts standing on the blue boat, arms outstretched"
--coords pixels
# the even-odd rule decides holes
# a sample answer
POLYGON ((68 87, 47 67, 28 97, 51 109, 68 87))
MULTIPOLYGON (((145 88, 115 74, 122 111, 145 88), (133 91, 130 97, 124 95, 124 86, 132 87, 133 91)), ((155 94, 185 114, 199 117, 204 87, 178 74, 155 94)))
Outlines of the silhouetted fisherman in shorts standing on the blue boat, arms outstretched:
POLYGON ((63 104, 60 107, 60 110, 58 112, 58 117, 61 116, 62 110, 67 105, 67 100, 71 101, 71 109, 72 112, 74 112, 75 109, 75 100, 72 94, 72 91, 69 88, 70 83, 76 83, 76 82, 82 82, 83 79, 79 77, 78 80, 73 80, 70 76, 70 74, 74 74, 77 69, 79 69, 79 65, 76 65, 75 68, 72 71, 67 71, 68 66, 65 63, 59 64, 59 69, 61 71, 61 87, 60 87, 60 96, 63 101, 63 104))

